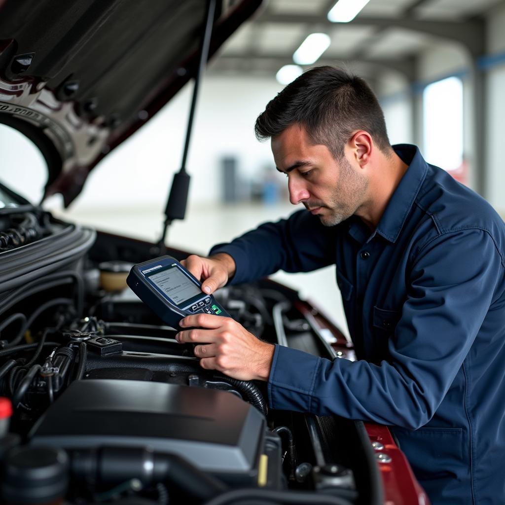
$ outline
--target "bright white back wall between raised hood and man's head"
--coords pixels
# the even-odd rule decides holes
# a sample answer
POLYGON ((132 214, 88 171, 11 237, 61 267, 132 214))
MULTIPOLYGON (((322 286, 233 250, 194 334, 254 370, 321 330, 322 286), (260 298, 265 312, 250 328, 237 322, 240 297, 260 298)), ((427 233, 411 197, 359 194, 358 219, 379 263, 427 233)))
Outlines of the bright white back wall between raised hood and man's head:
MULTIPOLYGON (((207 77, 200 90, 187 160, 193 204, 219 199, 223 156, 235 156, 246 175, 273 166, 269 142, 258 142, 253 127, 280 86, 274 79, 207 77)), ((180 168, 191 92, 189 84, 91 172, 75 210, 164 208, 169 183, 180 168)))

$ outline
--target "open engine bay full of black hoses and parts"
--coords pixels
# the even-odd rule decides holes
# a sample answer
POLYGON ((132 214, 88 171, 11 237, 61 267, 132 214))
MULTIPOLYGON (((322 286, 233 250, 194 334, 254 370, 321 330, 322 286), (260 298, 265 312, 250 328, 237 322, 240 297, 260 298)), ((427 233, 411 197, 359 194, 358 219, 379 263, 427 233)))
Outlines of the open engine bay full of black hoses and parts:
MULTIPOLYGON (((3 500, 381 503, 363 423, 269 411, 265 383, 202 369, 126 287, 131 266, 158 253, 28 203, 0 209, 0 396, 13 407, 0 434, 3 500)), ((273 281, 216 299, 265 341, 352 355, 273 281)))

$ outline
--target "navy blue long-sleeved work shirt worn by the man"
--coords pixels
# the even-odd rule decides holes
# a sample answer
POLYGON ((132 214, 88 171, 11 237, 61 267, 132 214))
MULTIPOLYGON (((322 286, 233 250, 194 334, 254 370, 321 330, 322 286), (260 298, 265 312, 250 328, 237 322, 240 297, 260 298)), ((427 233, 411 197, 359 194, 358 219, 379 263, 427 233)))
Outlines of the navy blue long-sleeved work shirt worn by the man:
POLYGON ((220 244, 233 283, 336 264, 359 361, 277 345, 274 409, 391 425, 433 504, 505 503, 505 225, 412 145, 374 231, 308 211, 220 244))

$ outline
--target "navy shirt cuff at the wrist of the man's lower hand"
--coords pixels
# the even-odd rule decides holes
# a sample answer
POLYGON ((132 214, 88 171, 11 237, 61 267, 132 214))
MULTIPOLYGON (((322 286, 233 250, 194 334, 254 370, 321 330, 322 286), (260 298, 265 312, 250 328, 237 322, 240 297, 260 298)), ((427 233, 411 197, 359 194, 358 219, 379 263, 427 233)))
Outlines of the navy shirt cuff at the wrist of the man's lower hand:
POLYGON ((321 358, 317 356, 276 345, 268 379, 270 408, 311 412, 320 365, 321 358))

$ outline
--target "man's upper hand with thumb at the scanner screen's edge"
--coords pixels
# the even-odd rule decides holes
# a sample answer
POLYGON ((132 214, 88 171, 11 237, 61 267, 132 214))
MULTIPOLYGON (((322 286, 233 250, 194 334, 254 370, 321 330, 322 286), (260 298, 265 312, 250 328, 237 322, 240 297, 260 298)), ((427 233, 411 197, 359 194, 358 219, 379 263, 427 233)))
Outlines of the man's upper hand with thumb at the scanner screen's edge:
POLYGON ((211 258, 191 255, 182 260, 181 264, 201 281, 201 289, 207 294, 223 287, 235 274, 235 262, 225 252, 211 258))

